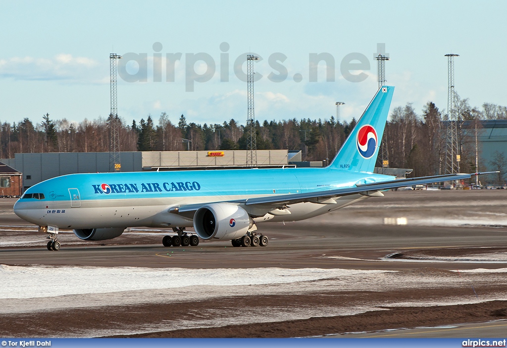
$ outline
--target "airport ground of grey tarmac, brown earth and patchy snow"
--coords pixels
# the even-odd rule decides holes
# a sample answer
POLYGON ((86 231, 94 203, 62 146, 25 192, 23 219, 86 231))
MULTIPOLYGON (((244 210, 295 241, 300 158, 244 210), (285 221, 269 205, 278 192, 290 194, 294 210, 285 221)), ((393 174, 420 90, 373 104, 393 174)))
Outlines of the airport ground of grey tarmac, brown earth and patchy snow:
POLYGON ((37 226, 13 213, 14 202, 0 200, 0 264, 7 265, 0 275, 21 277, 19 266, 37 271, 30 275, 34 282, 48 267, 67 273, 46 282, 46 294, 0 296, 2 336, 505 336, 507 190, 388 191, 383 198, 305 221, 259 224, 270 242, 249 248, 225 241, 164 248, 167 231, 133 228, 102 242, 81 241, 71 231, 61 231, 61 249, 48 251, 37 226), (88 295, 69 290, 52 296, 52 282, 65 282, 66 275, 74 279, 83 267, 136 267, 141 273, 188 269, 189 277, 204 269, 218 272, 224 281, 211 280, 203 287, 199 280, 204 276, 196 276, 197 283, 176 288, 161 283, 159 289, 115 288, 111 281, 88 295), (314 276, 313 269, 335 273, 303 281, 261 279, 261 274, 279 274, 280 268, 294 277, 314 276), (373 270, 379 273, 367 273, 373 270), (463 305, 474 309, 463 312, 463 305), (442 306, 450 309, 436 315, 442 306), (115 319, 106 320, 104 308, 115 319), (414 318, 419 310, 424 314, 414 318), (381 311, 379 321, 361 319, 375 311, 381 311), (406 322, 393 321, 395 311, 402 311, 397 317, 406 322), (353 329, 340 321, 347 316, 357 321, 353 329), (323 330, 328 324, 312 325, 316 318, 326 320, 329 332, 323 330), (17 331, 4 325, 13 320, 22 323, 17 331), (51 329, 45 327, 48 321, 55 322, 51 329))

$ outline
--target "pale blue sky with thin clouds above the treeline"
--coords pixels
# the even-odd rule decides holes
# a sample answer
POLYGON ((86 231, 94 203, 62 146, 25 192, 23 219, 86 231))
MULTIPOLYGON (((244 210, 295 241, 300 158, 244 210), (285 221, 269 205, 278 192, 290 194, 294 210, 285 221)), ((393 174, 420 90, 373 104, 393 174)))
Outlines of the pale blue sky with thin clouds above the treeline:
POLYGON ((184 114, 245 124, 247 53, 262 58, 257 120, 329 119, 343 101, 350 121, 378 88, 378 44, 390 58, 391 110, 447 108, 447 53, 459 54, 461 98, 505 105, 505 13, 503 1, 0 0, 0 122, 106 118, 110 53, 123 57, 118 114, 128 124, 149 114, 158 122, 161 112, 173 123, 184 114))

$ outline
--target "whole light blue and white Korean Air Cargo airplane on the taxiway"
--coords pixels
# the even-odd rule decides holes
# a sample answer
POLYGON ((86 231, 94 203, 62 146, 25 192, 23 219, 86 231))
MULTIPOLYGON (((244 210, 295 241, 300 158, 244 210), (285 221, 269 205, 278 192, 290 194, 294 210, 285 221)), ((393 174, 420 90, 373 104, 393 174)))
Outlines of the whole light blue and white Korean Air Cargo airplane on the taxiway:
POLYGON ((327 167, 69 174, 28 188, 14 212, 48 234, 48 250, 60 249, 60 228, 101 241, 141 226, 172 228, 165 247, 197 246, 199 238, 256 247, 269 242, 257 229, 262 222, 304 220, 391 188, 488 174, 374 174, 393 92, 379 88, 327 167))

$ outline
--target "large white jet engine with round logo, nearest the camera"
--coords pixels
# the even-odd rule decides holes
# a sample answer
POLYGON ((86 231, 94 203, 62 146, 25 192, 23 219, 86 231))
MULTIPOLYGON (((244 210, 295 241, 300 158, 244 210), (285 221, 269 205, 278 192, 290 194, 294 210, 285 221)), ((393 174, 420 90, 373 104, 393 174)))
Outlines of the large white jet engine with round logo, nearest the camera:
POLYGON ((194 214, 194 229, 204 240, 232 240, 243 236, 253 225, 241 207, 230 203, 211 203, 194 214))

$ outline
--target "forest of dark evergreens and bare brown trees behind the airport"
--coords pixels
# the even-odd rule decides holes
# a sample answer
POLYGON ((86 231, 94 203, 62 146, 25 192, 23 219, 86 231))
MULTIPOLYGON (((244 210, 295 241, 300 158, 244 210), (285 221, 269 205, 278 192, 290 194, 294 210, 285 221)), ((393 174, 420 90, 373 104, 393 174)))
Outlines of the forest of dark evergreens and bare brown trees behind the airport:
MULTIPOLYGON (((471 107, 467 99, 458 97, 457 100, 460 123, 472 121, 480 125, 480 120, 507 120, 505 106, 485 103, 478 108, 471 107)), ((121 151, 246 149, 247 132, 234 119, 223 124, 201 125, 189 122, 182 114, 175 124, 163 112, 157 124, 151 115, 139 122, 117 120, 121 151)), ((410 103, 392 109, 385 132, 390 167, 413 168, 416 176, 442 173, 446 120, 447 114, 432 102, 421 113, 410 103)), ((14 158, 17 152, 109 151, 110 121, 98 118, 73 123, 67 119, 52 120, 46 113, 42 122, 29 118, 13 124, 4 122, 0 132, 0 158, 14 158)), ((337 122, 334 117, 257 122, 257 148, 302 150, 306 161, 332 160, 355 123, 355 119, 350 123, 337 122)), ((460 171, 473 172, 476 170, 475 138, 470 132, 458 133, 460 171)), ((489 163, 484 166, 491 167, 489 163)))

